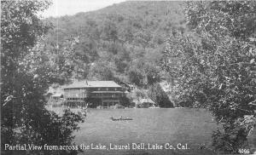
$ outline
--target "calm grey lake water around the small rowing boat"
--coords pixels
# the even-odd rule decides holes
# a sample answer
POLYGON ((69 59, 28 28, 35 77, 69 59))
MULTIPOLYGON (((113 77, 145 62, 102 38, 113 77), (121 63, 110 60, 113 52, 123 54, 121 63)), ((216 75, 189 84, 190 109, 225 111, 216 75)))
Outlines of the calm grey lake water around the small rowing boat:
MULTIPOLYGON (((76 110, 75 110, 76 111, 76 110)), ((204 109, 160 108, 160 109, 90 109, 80 130, 75 133, 74 142, 84 146, 91 144, 112 146, 132 143, 157 144, 165 146, 169 143, 177 148, 177 144, 189 149, 158 150, 92 150, 85 149, 80 154, 214 154, 211 146, 212 130, 216 129, 212 116, 204 109), (110 118, 132 118, 131 121, 112 121, 110 118), (186 145, 187 144, 187 145, 186 145), (201 149, 206 146, 207 149, 201 149), (201 147, 201 148, 200 148, 201 147)))

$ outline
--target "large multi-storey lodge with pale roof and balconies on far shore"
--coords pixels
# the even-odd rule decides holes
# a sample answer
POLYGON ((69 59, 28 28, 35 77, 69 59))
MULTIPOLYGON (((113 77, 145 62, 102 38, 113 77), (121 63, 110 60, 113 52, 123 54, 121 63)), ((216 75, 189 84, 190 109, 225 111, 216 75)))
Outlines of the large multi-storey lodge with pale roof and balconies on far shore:
POLYGON ((64 105, 114 106, 123 95, 122 87, 113 81, 75 81, 64 87, 64 105))

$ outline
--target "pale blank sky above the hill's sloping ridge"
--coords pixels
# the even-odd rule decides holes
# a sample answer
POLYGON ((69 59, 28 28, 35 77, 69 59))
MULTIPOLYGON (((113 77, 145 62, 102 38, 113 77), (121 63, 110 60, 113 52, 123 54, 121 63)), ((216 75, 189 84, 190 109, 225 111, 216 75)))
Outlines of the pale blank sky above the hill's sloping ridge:
POLYGON ((102 9, 113 3, 125 2, 125 0, 51 0, 53 4, 41 14, 44 18, 49 16, 59 17, 73 15, 79 12, 88 12, 102 9))

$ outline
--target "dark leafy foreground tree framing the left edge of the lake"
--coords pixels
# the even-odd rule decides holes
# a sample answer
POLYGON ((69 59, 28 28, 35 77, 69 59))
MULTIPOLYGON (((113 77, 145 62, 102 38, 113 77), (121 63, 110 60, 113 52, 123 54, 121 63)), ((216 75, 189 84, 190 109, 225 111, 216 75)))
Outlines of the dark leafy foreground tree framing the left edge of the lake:
POLYGON ((78 150, 4 151, 4 144, 72 145, 82 114, 62 117, 45 109, 44 93, 52 83, 45 44, 50 26, 37 16, 47 1, 1 1, 1 152, 3 154, 77 154, 78 150))

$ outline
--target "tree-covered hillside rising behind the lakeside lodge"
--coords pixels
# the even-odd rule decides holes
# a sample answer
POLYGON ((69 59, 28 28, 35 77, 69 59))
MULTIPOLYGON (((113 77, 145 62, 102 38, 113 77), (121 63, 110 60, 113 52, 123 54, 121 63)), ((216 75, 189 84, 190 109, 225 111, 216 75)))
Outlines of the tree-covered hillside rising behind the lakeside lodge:
POLYGON ((157 64, 166 38, 186 32, 182 2, 132 1, 47 20, 54 25, 47 42, 56 51, 62 78, 122 80, 137 85, 160 81, 157 64), (75 45, 68 49, 72 39, 75 45), (72 55, 70 59, 64 50, 72 55))

